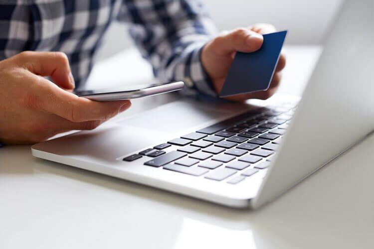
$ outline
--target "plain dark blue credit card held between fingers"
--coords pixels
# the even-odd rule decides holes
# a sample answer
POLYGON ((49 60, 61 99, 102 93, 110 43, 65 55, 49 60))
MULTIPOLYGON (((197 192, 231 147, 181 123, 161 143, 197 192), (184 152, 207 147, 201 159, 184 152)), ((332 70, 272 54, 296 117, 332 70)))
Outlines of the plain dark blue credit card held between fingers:
POLYGON ((287 31, 264 34, 259 50, 237 52, 219 93, 220 97, 264 91, 269 88, 287 31))

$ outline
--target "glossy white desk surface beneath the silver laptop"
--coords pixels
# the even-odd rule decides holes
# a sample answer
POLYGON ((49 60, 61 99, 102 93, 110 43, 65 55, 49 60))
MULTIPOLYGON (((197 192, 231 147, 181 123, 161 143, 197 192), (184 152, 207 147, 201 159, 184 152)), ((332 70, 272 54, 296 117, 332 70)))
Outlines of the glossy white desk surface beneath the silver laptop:
MULTIPOLYGON (((299 94, 318 48, 286 51, 280 92, 299 94)), ((137 100, 124 115, 175 98, 137 100)), ((280 199, 248 211, 36 159, 29 146, 6 146, 0 149, 0 248, 373 248, 373 149, 371 136, 280 199)))

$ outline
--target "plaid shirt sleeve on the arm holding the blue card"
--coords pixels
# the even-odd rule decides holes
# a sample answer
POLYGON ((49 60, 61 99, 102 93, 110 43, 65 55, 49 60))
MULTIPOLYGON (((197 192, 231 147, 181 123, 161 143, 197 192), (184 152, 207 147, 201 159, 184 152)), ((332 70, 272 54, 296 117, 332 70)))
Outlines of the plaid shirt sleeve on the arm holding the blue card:
POLYGON ((119 20, 160 81, 184 81, 187 96, 216 97, 200 59, 216 28, 200 0, 124 0, 119 20))

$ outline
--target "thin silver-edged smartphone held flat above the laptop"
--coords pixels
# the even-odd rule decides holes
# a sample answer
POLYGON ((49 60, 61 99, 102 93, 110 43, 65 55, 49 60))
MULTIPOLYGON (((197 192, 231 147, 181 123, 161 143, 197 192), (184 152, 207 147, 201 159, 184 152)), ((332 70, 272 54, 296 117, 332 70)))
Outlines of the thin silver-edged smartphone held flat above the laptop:
POLYGON ((178 91, 184 86, 185 83, 183 81, 176 81, 159 84, 128 85, 121 88, 75 90, 74 94, 94 101, 130 100, 178 91))

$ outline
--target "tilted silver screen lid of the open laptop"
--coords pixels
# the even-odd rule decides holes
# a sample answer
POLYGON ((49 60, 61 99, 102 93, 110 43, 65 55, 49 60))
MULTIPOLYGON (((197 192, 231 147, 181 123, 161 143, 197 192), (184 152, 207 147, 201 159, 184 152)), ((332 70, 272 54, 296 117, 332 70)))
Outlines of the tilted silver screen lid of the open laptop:
POLYGON ((374 130, 373 15, 373 0, 342 4, 277 157, 253 199, 254 208, 374 130))

